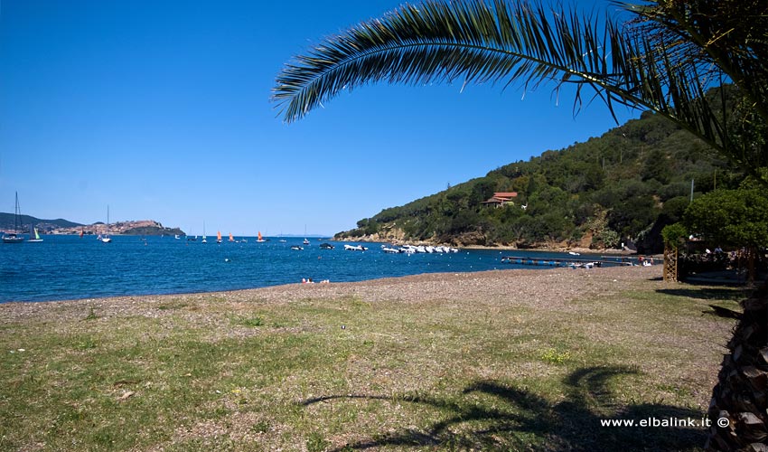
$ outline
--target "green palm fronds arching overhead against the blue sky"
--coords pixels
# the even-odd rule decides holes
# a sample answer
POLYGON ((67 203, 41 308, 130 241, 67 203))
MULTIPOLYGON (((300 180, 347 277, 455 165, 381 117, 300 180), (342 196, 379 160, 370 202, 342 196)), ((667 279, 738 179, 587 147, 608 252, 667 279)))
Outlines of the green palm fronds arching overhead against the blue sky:
MULTIPOLYGON (((755 168, 768 165, 768 158, 762 151, 745 152, 735 145, 728 118, 715 113, 728 108, 712 108, 706 93, 724 80, 754 80, 760 71, 764 75, 764 62, 761 66, 752 61, 754 49, 713 51, 713 38, 698 33, 701 21, 687 15, 685 5, 679 0, 663 6, 623 5, 636 17, 625 25, 564 8, 548 11, 525 0, 404 5, 295 57, 278 74, 272 99, 291 122, 342 90, 380 81, 492 82, 523 89, 553 83, 556 90, 568 83, 576 86, 575 111, 595 98, 612 114, 616 105, 651 109, 700 137, 747 174, 757 174, 755 168), (720 64, 723 58, 729 60, 720 64), (585 88, 590 90, 588 100, 585 88)), ((753 48, 768 42, 761 41, 760 30, 758 26, 748 32, 751 42, 757 42, 753 48)), ((727 41, 728 33, 723 34, 720 39, 727 41)), ((746 103, 757 118, 768 121, 763 114, 768 110, 764 84, 749 86, 753 89, 744 90, 746 103)))

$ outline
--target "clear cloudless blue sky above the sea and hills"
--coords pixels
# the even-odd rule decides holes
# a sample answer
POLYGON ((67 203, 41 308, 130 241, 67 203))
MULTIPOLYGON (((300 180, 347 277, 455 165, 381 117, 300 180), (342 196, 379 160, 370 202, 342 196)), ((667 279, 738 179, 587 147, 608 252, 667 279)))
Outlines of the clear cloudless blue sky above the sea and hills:
MULTIPOLYGON (((0 0, 0 212, 333 234, 615 127, 551 88, 377 85, 287 125, 276 74, 398 1, 0 0)), ((578 2, 607 8, 607 2, 578 2)), ((635 118, 620 111, 620 120, 635 118)))

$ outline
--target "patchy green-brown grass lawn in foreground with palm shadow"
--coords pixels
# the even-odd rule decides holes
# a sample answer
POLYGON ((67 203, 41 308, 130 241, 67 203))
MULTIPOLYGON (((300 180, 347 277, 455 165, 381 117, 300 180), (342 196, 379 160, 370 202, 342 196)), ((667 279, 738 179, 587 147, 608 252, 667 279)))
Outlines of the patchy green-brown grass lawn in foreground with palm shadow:
MULTIPOLYGON (((588 286, 588 285, 587 285, 588 286)), ((737 289, 0 306, 2 450, 690 449, 737 289), (9 308, 10 309, 10 308, 9 308)))

